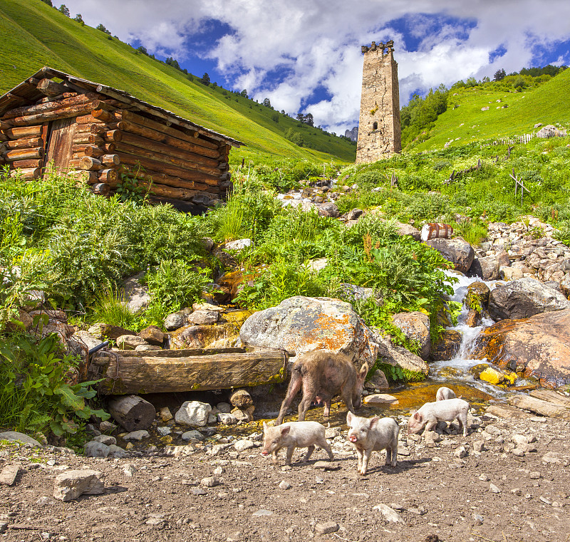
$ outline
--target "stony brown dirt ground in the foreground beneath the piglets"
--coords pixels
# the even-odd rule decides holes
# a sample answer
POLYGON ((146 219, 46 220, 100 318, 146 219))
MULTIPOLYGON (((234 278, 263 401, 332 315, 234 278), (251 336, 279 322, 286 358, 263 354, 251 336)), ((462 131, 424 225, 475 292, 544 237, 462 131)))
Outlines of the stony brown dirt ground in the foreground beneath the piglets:
POLYGON ((408 437, 400 419, 398 466, 385 467, 384 452, 374 452, 366 476, 356 472, 346 427, 329 441, 330 469, 316 464, 327 459, 323 450, 299 462, 303 449, 285 470, 281 450, 274 467, 255 435, 242 452, 232 444, 212 454, 205 445, 177 457, 92 459, 3 446, 0 470, 14 462, 21 470, 14 485, 0 485, 0 541, 569 541, 570 424, 530 414, 471 422, 467 437, 444 432, 427 445, 408 437), (521 457, 512 453, 514 434, 536 438, 521 457), (461 446, 466 457, 458 457, 461 446), (105 493, 53 499, 56 475, 83 468, 105 475, 105 493), (212 476, 219 484, 201 483, 212 476))

